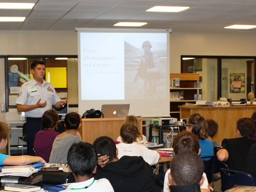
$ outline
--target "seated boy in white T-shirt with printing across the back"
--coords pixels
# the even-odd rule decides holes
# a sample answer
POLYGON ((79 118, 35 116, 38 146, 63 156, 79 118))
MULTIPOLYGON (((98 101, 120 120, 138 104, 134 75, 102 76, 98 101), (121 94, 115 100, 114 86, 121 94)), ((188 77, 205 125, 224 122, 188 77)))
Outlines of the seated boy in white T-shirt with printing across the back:
POLYGON ((161 159, 161 155, 147 147, 135 143, 138 134, 138 128, 132 123, 125 123, 121 126, 120 135, 123 143, 117 144, 118 158, 124 155, 141 156, 148 164, 154 165, 161 159))

